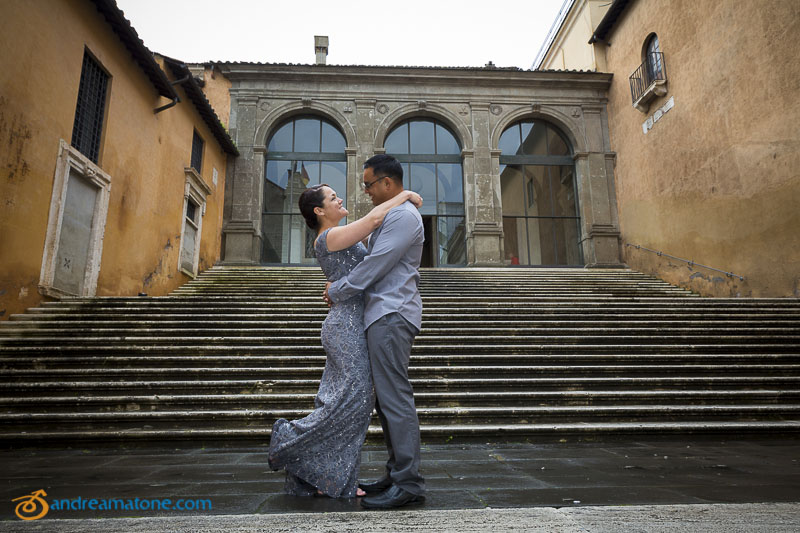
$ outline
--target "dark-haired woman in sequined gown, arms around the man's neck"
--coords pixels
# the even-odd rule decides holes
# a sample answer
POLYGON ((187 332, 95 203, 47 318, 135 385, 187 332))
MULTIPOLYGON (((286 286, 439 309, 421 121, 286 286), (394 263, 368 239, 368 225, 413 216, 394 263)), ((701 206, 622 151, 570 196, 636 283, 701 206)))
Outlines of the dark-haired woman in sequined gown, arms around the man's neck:
MULTIPOLYGON (((336 191, 322 184, 300 195, 300 212, 308 227, 317 231, 314 251, 328 281, 347 275, 364 259, 367 250, 361 241, 381 225, 389 210, 407 200, 422 205, 417 193, 404 191, 364 218, 340 226, 348 211, 336 191)), ((327 359, 315 409, 300 420, 275 422, 269 464, 273 470, 286 469, 289 494, 363 496, 358 489, 361 445, 375 405, 363 296, 331 306, 322 323, 322 346, 327 359)))

